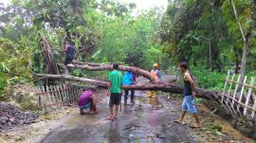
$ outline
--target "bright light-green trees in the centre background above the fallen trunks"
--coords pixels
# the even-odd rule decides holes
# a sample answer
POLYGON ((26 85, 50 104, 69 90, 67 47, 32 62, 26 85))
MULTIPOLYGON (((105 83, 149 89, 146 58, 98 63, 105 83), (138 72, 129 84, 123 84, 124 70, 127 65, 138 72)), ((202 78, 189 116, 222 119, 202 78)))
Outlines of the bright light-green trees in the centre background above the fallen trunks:
POLYGON ((125 17, 105 17, 102 36, 99 40, 98 51, 92 56, 96 62, 110 63, 136 63, 142 68, 151 68, 153 63, 160 62, 161 45, 157 42, 158 35, 155 30, 159 21, 155 14, 159 11, 153 9, 148 13, 142 13, 137 17, 126 15, 125 17))

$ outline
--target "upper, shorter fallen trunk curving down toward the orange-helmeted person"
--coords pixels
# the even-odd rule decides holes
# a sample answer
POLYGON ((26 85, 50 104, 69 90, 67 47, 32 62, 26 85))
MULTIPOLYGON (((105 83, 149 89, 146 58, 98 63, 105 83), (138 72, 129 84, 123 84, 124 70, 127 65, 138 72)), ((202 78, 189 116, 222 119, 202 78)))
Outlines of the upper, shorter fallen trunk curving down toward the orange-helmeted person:
MULTIPOLYGON (((60 63, 60 65, 64 66, 63 63, 60 63)), ((82 63, 82 62, 79 62, 78 64, 67 64, 67 67, 86 69, 86 70, 90 70, 90 71, 113 70, 111 64, 100 64, 100 63, 82 63)), ((143 77, 147 78, 148 80, 151 80, 152 83, 157 82, 154 75, 152 75, 150 72, 148 72, 146 70, 143 70, 141 68, 138 68, 138 67, 119 65, 119 70, 133 72, 137 75, 140 75, 140 76, 143 76, 143 77)))

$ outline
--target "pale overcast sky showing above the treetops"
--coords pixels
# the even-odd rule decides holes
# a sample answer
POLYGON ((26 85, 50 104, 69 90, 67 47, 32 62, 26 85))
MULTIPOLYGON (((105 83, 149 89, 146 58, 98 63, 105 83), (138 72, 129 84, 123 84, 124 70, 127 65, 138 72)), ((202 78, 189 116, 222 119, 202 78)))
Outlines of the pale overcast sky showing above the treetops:
MULTIPOLYGON (((11 0, 0 0, 0 3, 4 3, 5 5, 8 5, 11 0)), ((137 10, 141 9, 151 9, 154 7, 163 7, 166 9, 167 7, 167 0, 117 0, 119 2, 124 3, 131 3, 134 2, 137 4, 137 10)))

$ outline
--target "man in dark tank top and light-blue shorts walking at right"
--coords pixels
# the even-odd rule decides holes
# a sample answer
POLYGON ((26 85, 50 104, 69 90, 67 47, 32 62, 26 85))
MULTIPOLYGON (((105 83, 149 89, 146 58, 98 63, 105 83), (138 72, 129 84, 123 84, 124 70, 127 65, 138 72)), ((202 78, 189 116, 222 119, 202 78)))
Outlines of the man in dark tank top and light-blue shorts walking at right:
POLYGON ((188 69, 188 63, 182 62, 179 63, 180 70, 184 73, 184 99, 182 103, 182 114, 181 116, 175 120, 174 122, 183 124, 183 118, 187 112, 191 113, 195 118, 195 123, 190 124, 191 128, 200 128, 201 123, 199 117, 197 115, 197 110, 193 101, 195 97, 195 84, 192 79, 192 74, 188 69))

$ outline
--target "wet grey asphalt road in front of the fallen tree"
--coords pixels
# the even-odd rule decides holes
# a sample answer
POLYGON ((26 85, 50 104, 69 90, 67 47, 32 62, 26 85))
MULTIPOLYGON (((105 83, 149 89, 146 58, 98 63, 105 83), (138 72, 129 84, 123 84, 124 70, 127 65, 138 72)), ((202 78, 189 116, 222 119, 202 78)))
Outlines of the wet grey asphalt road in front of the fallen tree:
POLYGON ((188 126, 174 123, 178 116, 164 98, 146 98, 136 92, 135 105, 122 106, 119 119, 108 116, 107 98, 101 91, 100 113, 81 116, 79 111, 54 129, 41 143, 175 143, 193 142, 188 126))

